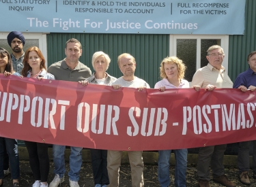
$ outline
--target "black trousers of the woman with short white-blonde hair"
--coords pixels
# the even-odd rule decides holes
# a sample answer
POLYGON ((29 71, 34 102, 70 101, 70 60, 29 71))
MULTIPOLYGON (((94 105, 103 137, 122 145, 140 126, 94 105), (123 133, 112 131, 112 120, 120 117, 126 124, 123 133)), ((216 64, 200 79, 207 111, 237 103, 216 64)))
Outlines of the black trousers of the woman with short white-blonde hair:
POLYGON ((107 150, 91 149, 91 165, 94 173, 94 184, 108 185, 109 175, 106 169, 107 150))

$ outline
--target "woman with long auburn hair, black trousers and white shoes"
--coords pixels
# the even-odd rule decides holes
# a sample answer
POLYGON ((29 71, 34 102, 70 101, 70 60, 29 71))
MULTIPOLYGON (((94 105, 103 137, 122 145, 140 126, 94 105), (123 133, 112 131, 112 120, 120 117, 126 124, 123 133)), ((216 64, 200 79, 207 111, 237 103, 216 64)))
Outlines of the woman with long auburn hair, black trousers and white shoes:
MULTIPOLYGON (((22 75, 34 79, 55 80, 54 75, 46 72, 45 58, 36 46, 29 48, 25 52, 23 59, 22 75)), ((25 141, 27 151, 29 152, 29 163, 33 172, 35 182, 32 187, 47 187, 48 173, 50 163, 48 158, 48 144, 33 141, 25 141)))

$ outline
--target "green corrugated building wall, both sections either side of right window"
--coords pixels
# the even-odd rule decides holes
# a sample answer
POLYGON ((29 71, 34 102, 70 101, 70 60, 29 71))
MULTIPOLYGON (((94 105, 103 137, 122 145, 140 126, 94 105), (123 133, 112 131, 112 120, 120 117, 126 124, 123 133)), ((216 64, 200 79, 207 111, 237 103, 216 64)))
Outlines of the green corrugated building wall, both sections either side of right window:
MULTIPOLYGON (((246 1, 244 35, 229 35, 229 76, 233 81, 239 73, 246 71, 246 56, 256 50, 255 7, 255 0, 246 1)), ((231 21, 236 24, 236 20, 231 21)), ((162 58, 169 55, 169 35, 50 33, 47 35, 48 66, 65 58, 65 43, 71 37, 81 41, 83 55, 80 60, 92 71, 92 54, 99 50, 109 54, 108 72, 117 78, 122 76, 117 67, 117 56, 123 52, 132 54, 137 61, 136 75, 151 87, 160 80, 158 68, 162 58)))

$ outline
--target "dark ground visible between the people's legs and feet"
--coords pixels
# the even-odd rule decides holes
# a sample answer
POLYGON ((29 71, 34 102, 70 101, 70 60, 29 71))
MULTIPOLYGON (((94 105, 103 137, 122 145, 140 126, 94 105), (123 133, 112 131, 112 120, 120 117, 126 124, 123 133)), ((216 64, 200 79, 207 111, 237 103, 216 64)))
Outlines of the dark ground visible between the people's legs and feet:
MULTIPOLYGON (((51 162, 51 170, 48 176, 48 182, 54 177, 53 174, 53 162, 51 162)), ((66 170, 68 171, 69 165, 66 163, 66 170)), ((173 173, 174 167, 170 168, 171 172, 171 180, 173 181, 173 173)), ((246 185, 242 185, 237 177, 237 169, 236 167, 225 167, 225 173, 229 176, 229 178, 236 182, 237 186, 245 187, 246 185)), ((251 177, 251 187, 256 187, 256 180, 253 180, 252 172, 249 173, 249 177, 251 177)), ((68 184, 68 175, 65 175, 66 180, 61 184, 61 187, 69 187, 68 184)), ((187 169, 187 187, 195 187, 198 185, 197 182, 197 170, 196 165, 188 165, 187 169)), ((145 187, 158 187, 158 178, 157 178, 157 165, 145 165, 144 170, 144 181, 145 187)), ((33 184, 33 175, 31 169, 29 167, 29 162, 27 160, 20 160, 20 184, 23 187, 30 187, 33 184)), ((94 187, 94 180, 92 175, 92 169, 90 163, 83 163, 81 169, 81 179, 79 180, 79 184, 81 187, 94 187)), ((212 187, 222 186, 220 184, 216 184, 215 182, 210 182, 212 187)), ((120 187, 130 187, 131 184, 131 177, 130 177, 130 166, 127 164, 123 164, 120 168, 120 187)), ((3 187, 12 187, 12 180, 10 175, 4 178, 4 185, 3 187)), ((174 187, 174 184, 171 184, 171 187, 174 187)))

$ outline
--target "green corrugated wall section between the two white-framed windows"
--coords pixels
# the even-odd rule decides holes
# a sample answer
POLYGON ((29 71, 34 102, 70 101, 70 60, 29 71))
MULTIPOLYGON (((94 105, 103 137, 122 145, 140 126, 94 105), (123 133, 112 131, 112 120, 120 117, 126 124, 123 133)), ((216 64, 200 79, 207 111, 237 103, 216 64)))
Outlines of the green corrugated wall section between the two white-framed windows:
POLYGON ((81 42, 83 54, 80 61, 90 67, 91 71, 91 56, 102 50, 111 58, 107 72, 119 78, 122 73, 117 66, 117 56, 128 52, 137 62, 135 75, 151 87, 160 80, 162 58, 169 55, 169 35, 51 33, 47 35, 48 66, 65 58, 65 44, 72 37, 81 42))

